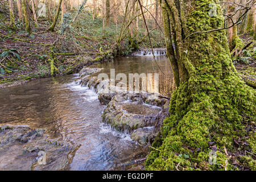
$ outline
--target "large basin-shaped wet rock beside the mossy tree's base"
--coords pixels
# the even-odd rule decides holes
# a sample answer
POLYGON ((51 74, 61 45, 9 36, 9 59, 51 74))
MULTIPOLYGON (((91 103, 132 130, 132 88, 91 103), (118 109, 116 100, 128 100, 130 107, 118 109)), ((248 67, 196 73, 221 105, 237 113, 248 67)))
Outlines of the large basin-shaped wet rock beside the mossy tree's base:
POLYGON ((168 115, 166 98, 150 93, 117 93, 102 115, 103 121, 115 129, 129 132, 142 146, 156 137, 168 115))

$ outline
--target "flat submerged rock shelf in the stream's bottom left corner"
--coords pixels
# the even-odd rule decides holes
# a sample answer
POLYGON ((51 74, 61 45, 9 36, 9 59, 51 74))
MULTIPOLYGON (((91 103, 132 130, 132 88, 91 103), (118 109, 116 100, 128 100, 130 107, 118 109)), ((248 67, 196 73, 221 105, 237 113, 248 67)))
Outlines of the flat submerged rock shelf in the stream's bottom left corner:
POLYGON ((79 146, 51 140, 45 131, 28 126, 0 126, 0 170, 67 168, 79 146))

